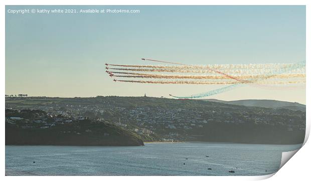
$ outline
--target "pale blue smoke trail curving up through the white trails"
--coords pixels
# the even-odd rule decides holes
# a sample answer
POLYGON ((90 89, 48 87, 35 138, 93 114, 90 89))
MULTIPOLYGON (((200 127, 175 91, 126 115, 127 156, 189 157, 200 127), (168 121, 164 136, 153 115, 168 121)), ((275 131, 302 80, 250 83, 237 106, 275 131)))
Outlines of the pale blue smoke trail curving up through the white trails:
MULTIPOLYGON (((290 69, 287 68, 287 67, 282 68, 280 71, 271 73, 270 75, 268 75, 268 77, 276 75, 276 74, 282 74, 282 73, 290 72, 290 71, 292 71, 294 69, 299 69, 299 68, 302 68, 302 67, 305 67, 305 62, 298 62, 297 64, 294 64, 294 66, 291 67, 290 69)), ((171 95, 171 96, 175 97, 175 98, 182 98, 182 99, 202 98, 202 97, 208 97, 208 96, 212 96, 212 95, 215 95, 215 94, 220 94, 220 93, 223 93, 223 92, 227 92, 229 90, 232 90, 232 89, 240 87, 240 86, 243 86, 243 84, 233 84, 233 85, 229 85, 229 86, 226 86, 226 87, 215 89, 215 90, 212 90, 212 91, 209 91, 209 92, 203 92, 203 93, 194 94, 194 95, 191 95, 191 96, 185 96, 185 97, 178 97, 178 96, 173 96, 173 95, 171 95)))

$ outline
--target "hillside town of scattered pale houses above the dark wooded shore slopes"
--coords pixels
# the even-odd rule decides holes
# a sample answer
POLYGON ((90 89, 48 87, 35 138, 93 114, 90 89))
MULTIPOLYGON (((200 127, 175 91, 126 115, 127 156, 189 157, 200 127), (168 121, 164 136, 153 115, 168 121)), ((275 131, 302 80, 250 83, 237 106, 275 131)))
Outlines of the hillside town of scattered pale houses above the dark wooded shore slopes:
MULTIPOLYGON (((25 105, 14 103, 21 99, 27 101, 30 98, 7 98, 6 109, 25 109, 25 105)), ((27 109, 42 110, 47 115, 42 116, 38 113, 32 119, 6 117, 6 122, 15 124, 23 120, 25 123, 22 125, 23 128, 46 129, 57 124, 69 124, 72 121, 89 118, 113 123, 140 135, 157 134, 165 140, 186 140, 191 132, 204 129, 213 123, 236 125, 252 123, 271 127, 281 125, 285 126, 287 131, 305 130, 305 112, 284 109, 249 108, 246 106, 234 108, 228 107, 226 104, 205 105, 204 102, 199 106, 172 106, 170 108, 161 104, 156 104, 156 106, 123 104, 121 106, 111 97, 93 98, 90 102, 81 102, 79 98, 72 98, 71 101, 56 101, 55 99, 53 101, 49 98, 40 98, 39 100, 41 102, 28 104, 27 109)))

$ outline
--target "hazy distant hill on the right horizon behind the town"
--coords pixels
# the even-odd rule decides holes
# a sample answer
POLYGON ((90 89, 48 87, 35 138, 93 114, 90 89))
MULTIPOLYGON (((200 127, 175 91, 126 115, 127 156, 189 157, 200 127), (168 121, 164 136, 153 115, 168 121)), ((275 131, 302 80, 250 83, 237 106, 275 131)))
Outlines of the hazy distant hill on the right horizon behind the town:
POLYGON ((277 100, 257 100, 257 99, 246 99, 236 101, 223 101, 218 99, 201 99, 212 102, 220 102, 225 104, 241 105, 241 106, 255 106, 255 107, 266 107, 266 108, 279 108, 279 109, 290 109, 305 111, 305 105, 297 102, 286 102, 277 100))

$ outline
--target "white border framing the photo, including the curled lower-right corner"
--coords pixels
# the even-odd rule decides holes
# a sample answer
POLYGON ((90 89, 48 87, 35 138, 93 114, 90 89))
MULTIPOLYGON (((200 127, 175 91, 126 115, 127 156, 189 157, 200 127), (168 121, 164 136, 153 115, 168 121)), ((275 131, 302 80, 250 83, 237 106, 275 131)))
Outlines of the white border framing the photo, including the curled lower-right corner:
MULTIPOLYGON (((1 87, 2 87, 2 95, 5 95, 5 5, 307 5, 306 6, 306 50, 310 49, 310 36, 309 36, 309 32, 310 32, 310 1, 302 1, 302 0, 298 0, 298 1, 288 1, 288 0, 262 0, 262 1, 247 1, 247 0, 222 0, 222 1, 197 1, 197 0, 192 0, 192 1, 178 1, 178 2, 173 2, 170 0, 158 0, 158 1, 139 1, 139 0, 132 0, 132 1, 95 1, 95 0, 88 0, 88 1, 74 1, 75 4, 72 4, 72 2, 70 1, 64 1, 64 0, 55 0, 55 1, 38 1, 38 0, 33 0, 33 1, 27 1, 27 3, 25 1, 19 0, 19 1, 1 1, 2 4, 2 9, 1 9, 1 25, 2 29, 1 29, 1 37, 2 37, 2 44, 1 44, 1 55, 2 55, 2 60, 0 63, 0 74, 1 74, 1 87)), ((310 65, 308 64, 309 61, 309 53, 306 52, 306 92, 310 92, 310 65)), ((1 112, 1 117, 4 118, 5 117, 5 98, 4 96, 1 97, 1 100, 3 102, 3 107, 0 108, 0 112, 1 112)), ((306 105, 309 105, 310 103, 310 96, 309 94, 306 94, 306 105)), ((307 110, 307 114, 306 114, 306 138, 309 135, 310 132, 310 114, 309 112, 309 107, 306 106, 306 110, 307 110)), ((2 170, 2 176, 5 175, 5 122, 3 121, 3 124, 1 126, 1 135, 2 135, 2 139, 1 139, 1 143, 3 145, 3 149, 2 154, 1 154, 1 159, 2 159, 2 163, 1 164, 1 170, 2 170)), ((306 142, 307 139, 305 139, 304 143, 306 142)), ((304 158, 307 157, 309 160, 309 156, 308 156, 308 152, 310 151, 310 146, 304 146, 306 148, 308 148, 308 150, 305 150, 304 148, 302 148, 301 150, 301 155, 299 155, 299 159, 300 160, 295 160, 295 165, 290 165, 287 164, 284 166, 285 169, 289 168, 290 171, 281 171, 282 174, 276 174, 274 176, 274 180, 283 180, 288 178, 288 176, 292 176, 295 174, 299 174, 298 177, 301 177, 301 175, 305 177, 301 177, 301 178, 307 178, 308 176, 308 171, 300 171, 300 170, 304 170, 303 165, 301 165, 300 163, 302 163, 304 161, 304 158), (303 156, 304 153, 304 156, 303 156), (301 157, 302 156, 302 157, 301 157)), ((300 150, 298 151, 300 154, 300 150)), ((298 157, 298 155, 294 156, 293 159, 295 157, 298 157)), ((293 162, 294 160, 290 160, 289 162, 293 162)), ((304 166, 308 167, 309 163, 308 162, 304 162, 304 166)), ((281 170, 282 170, 281 169, 281 170)), ((206 179, 213 179, 213 180, 224 180, 224 179, 230 179, 230 180, 258 180, 258 179, 265 179, 268 178, 270 176, 272 176, 273 174, 270 175, 264 175, 264 176, 191 176, 191 177, 184 177, 184 176, 174 176, 174 179, 178 179, 178 180, 188 180, 188 179, 198 179, 198 180, 206 180, 206 179)), ((47 180, 52 180, 55 179, 55 177, 51 177, 51 176, 45 176, 44 178, 41 176, 36 176, 36 177, 28 177, 28 176, 19 176, 19 177, 13 177, 13 176, 6 176, 4 177, 5 179, 8 180, 14 180, 14 179, 26 179, 26 180, 39 180, 39 179, 47 179, 47 180)), ((159 177, 159 176, 127 176, 127 177, 120 177, 120 176, 105 176, 105 177, 101 177, 101 176, 91 176, 91 177, 83 177, 83 176, 79 176, 79 177, 68 177, 68 176, 59 176, 57 177, 58 179, 77 179, 77 180, 82 180, 82 179, 95 179, 95 180, 102 180, 102 179, 110 179, 110 180, 118 180, 118 179, 133 179, 133 180, 159 180, 159 179, 165 179, 165 180, 169 180, 172 179, 173 177, 159 177)))

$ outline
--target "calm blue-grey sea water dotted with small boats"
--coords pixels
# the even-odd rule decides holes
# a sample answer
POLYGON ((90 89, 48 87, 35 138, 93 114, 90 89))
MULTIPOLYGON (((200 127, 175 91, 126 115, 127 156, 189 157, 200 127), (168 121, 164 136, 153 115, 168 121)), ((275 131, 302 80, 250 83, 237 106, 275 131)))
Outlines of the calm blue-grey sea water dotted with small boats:
POLYGON ((264 175, 277 171, 282 151, 300 146, 207 142, 124 147, 8 145, 6 174, 264 175), (235 173, 229 173, 231 169, 235 173))

